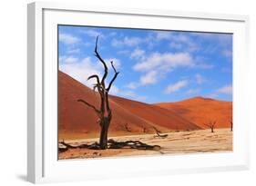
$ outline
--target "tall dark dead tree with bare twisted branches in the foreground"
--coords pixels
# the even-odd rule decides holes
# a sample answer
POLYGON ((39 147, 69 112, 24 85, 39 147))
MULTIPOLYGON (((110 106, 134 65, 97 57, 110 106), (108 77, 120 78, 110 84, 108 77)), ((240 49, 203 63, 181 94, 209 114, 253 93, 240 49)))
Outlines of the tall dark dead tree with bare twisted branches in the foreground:
MULTIPOLYGON (((98 39, 98 36, 97 36, 97 39, 98 39)), ((97 113, 99 126, 101 128, 100 137, 99 137, 99 147, 100 147, 100 149, 107 149, 108 148, 108 127, 109 127, 109 124, 112 119, 112 112, 111 112, 109 102, 108 102, 108 93, 110 91, 112 84, 118 77, 118 72, 117 72, 113 62, 111 61, 111 66, 112 66, 115 74, 107 86, 105 81, 108 76, 108 66, 107 66, 106 62, 101 58, 101 56, 97 52, 97 39, 96 39, 94 52, 95 52, 95 56, 97 57, 99 62, 101 64, 103 64, 103 66, 104 66, 104 75, 103 75, 102 79, 100 80, 97 74, 93 74, 93 75, 89 76, 87 78, 87 80, 96 79, 96 81, 97 81, 97 83, 94 84, 93 89, 94 90, 97 89, 97 93, 100 96, 100 108, 97 109, 96 106, 94 106, 90 103, 87 103, 87 101, 82 100, 82 99, 78 99, 77 102, 86 104, 88 107, 92 108, 95 111, 95 113, 97 113)))

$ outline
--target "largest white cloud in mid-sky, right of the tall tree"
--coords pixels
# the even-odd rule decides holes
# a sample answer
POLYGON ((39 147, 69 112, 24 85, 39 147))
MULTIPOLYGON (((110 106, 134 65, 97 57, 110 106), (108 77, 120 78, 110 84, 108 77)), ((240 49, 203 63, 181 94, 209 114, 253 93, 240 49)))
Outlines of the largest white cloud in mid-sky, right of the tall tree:
POLYGON ((133 66, 136 71, 169 71, 179 66, 193 66, 193 59, 189 53, 153 53, 149 54, 145 60, 133 66))

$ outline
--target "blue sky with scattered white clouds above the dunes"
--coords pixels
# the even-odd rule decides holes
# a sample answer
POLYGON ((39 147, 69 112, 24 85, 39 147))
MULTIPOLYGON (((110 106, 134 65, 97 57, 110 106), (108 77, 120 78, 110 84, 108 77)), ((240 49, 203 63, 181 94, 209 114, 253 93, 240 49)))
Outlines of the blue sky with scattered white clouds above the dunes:
POLYGON ((98 35, 99 54, 120 72, 111 94, 145 103, 232 101, 232 34, 70 25, 59 25, 58 34, 59 69, 88 87, 89 75, 103 74, 94 56, 98 35))

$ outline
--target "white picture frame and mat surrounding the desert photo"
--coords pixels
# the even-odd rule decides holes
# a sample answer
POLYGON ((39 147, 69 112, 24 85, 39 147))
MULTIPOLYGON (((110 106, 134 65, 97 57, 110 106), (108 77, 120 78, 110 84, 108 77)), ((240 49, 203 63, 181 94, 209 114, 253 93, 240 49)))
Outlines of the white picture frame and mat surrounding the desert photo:
POLYGON ((246 91, 249 72, 248 16, 41 2, 29 4, 27 13, 28 181, 34 183, 87 181, 129 176, 249 169, 249 112, 247 112, 248 93, 246 91), (234 35, 233 152, 57 161, 57 24, 232 33, 234 35), (136 169, 134 164, 137 165, 136 169), (166 166, 167 164, 169 166, 166 166))

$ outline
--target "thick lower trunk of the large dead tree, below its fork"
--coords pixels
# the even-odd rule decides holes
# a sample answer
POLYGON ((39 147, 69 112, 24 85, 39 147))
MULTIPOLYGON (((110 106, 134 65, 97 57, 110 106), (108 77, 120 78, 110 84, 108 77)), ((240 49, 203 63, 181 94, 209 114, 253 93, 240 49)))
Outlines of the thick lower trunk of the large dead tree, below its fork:
POLYGON ((101 122, 101 131, 99 137, 99 146, 100 149, 108 149, 108 126, 110 120, 108 117, 104 117, 103 121, 101 122))

